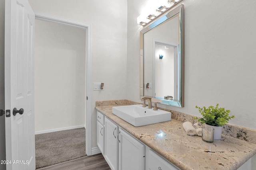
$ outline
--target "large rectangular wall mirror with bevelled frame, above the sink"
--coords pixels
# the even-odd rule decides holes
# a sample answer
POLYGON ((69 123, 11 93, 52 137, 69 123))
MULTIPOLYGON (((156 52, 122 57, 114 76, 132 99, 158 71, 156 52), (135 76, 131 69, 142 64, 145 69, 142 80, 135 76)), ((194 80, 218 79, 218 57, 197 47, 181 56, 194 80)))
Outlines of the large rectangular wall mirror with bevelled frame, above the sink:
POLYGON ((184 5, 140 31, 140 98, 184 107, 184 5))

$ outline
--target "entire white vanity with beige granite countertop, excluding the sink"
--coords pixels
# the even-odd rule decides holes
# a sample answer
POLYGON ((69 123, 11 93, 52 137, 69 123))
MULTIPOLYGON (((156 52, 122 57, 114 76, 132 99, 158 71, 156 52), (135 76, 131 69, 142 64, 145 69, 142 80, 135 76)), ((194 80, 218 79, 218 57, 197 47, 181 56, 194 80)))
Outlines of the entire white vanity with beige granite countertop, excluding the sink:
MULTIPOLYGON (((112 114, 112 107, 117 106, 113 103, 104 106, 96 102, 97 145, 112 170, 236 170, 256 154, 256 144, 228 135, 222 134, 214 143, 189 136, 175 117, 134 127, 112 114)), ((239 170, 246 169, 244 166, 239 170)))

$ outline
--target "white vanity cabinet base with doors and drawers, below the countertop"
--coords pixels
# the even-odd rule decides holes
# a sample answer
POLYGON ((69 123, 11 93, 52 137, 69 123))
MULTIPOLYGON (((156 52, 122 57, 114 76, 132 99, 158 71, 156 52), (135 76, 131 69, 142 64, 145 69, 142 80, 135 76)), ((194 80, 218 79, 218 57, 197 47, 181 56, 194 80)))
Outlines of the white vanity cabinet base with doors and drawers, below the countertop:
POLYGON ((178 170, 100 111, 97 111, 97 145, 112 170, 178 170))

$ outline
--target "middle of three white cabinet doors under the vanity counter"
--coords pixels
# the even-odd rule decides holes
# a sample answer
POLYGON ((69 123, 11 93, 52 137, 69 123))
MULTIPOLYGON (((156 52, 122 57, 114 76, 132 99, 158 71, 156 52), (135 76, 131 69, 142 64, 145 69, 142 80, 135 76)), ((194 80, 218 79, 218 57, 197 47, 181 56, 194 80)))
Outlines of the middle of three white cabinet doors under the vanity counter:
POLYGON ((112 170, 118 169, 118 126, 105 117, 104 156, 112 170))

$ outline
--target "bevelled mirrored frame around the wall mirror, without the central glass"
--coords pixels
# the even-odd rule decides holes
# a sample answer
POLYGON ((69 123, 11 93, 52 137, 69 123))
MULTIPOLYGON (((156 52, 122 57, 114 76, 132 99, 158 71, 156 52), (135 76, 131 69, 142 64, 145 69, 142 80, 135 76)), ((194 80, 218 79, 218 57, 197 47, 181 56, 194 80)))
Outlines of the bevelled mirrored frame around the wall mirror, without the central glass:
MULTIPOLYGON (((168 19, 172 18, 173 16, 178 15, 179 21, 180 21, 180 37, 179 37, 179 43, 180 43, 180 100, 169 100, 171 106, 178 106, 178 107, 184 107, 184 5, 181 4, 177 6, 174 9, 168 10, 164 12, 164 14, 160 15, 156 20, 150 22, 150 25, 145 25, 141 31, 140 31, 140 99, 143 97, 151 97, 152 96, 144 96, 144 76, 145 76, 145 67, 144 67, 144 33, 150 31, 154 27, 157 27, 158 25, 162 25, 167 21, 168 19)), ((161 103, 162 104, 162 103, 161 103)), ((164 104, 164 103, 163 103, 164 104)))

